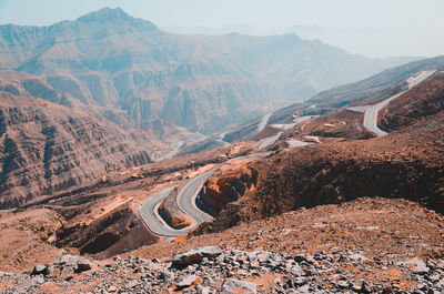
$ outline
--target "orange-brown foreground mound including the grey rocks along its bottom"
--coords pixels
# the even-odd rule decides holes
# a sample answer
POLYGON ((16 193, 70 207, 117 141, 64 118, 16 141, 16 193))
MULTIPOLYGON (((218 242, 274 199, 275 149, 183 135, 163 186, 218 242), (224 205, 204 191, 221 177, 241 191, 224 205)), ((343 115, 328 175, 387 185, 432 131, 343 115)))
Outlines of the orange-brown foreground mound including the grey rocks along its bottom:
MULTIPOLYGON (((0 273, 2 293, 444 293, 444 220, 405 200, 360 199, 109 260, 0 273)), ((1 268, 4 270, 4 268, 1 268)))

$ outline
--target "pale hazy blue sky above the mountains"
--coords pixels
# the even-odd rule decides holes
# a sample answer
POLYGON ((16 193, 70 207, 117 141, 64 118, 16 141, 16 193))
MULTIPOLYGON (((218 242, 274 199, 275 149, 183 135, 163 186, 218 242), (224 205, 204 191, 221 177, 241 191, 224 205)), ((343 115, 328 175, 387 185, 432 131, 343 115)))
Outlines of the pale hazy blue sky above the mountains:
POLYGON ((352 53, 444 54, 444 0, 0 0, 0 23, 47 26, 103 7, 160 28, 314 24, 319 39, 352 53))

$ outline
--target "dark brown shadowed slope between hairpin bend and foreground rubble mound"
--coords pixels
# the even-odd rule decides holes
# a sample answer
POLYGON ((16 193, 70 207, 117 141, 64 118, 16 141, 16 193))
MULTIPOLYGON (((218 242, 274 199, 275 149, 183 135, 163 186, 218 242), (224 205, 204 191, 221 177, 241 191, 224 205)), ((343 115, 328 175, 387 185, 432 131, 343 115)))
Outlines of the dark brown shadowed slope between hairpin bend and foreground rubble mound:
MULTIPOLYGON (((259 171, 256 190, 226 205, 195 233, 360 196, 405 197, 442 213, 443 125, 440 112, 385 138, 289 149, 260 160, 250 165, 259 171)), ((219 176, 212 181, 231 174, 219 176)))

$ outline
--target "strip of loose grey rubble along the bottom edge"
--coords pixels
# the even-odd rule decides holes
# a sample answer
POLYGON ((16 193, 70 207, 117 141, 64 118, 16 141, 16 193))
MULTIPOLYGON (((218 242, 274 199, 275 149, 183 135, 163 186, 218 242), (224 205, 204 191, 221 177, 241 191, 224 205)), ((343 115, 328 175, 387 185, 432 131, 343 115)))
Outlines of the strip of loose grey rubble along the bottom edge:
MULTIPOLYGON (((129 256, 92 264, 63 255, 30 275, 1 272, 3 293, 443 293, 444 258, 385 262, 354 251, 314 255, 200 247, 172 260, 129 256), (382 283, 355 275, 376 263, 382 283), (58 274, 54 274, 54 267, 58 274), (83 271, 87 273, 80 274, 83 271), (410 281, 402 281, 407 274, 410 281), (389 283, 390 282, 390 283, 389 283)), ((369 272, 369 274, 371 274, 369 272)))

